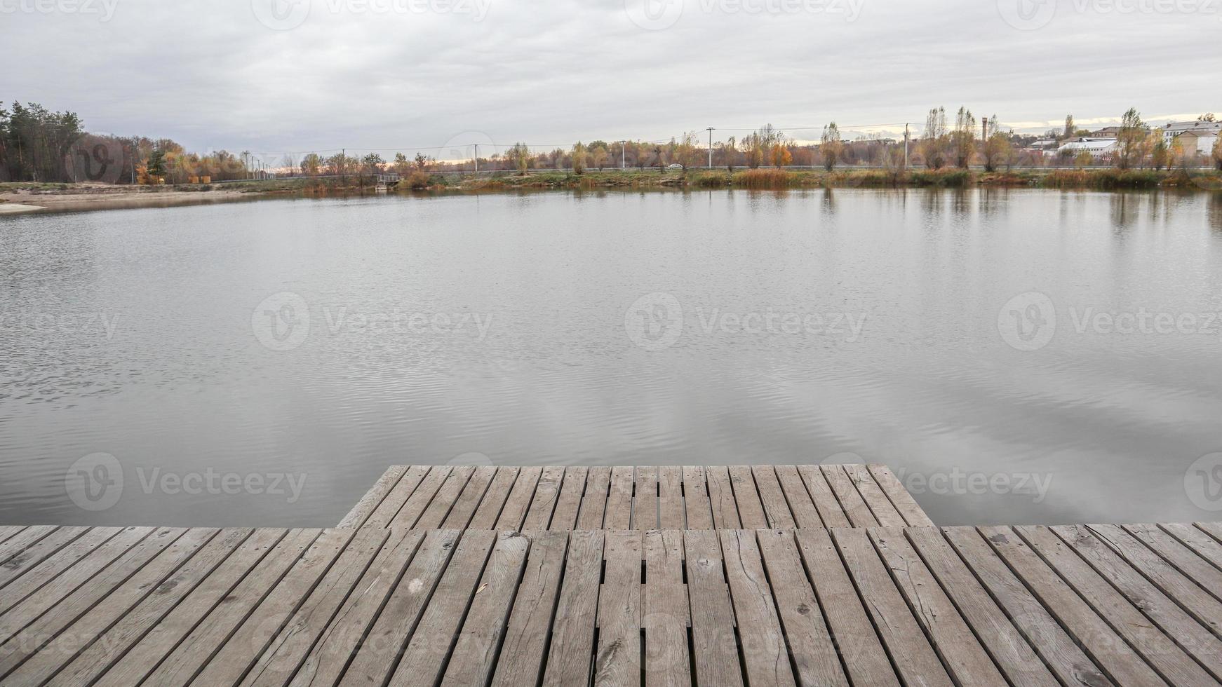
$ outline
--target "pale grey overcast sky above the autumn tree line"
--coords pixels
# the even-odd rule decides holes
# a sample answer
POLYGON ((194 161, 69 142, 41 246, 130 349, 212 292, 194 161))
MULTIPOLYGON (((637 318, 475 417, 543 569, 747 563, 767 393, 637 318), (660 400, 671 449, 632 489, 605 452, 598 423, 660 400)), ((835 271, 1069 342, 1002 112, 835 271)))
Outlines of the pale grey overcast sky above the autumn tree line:
POLYGON ((0 0, 0 99, 269 154, 919 126, 960 104, 1042 131, 1222 110, 1220 38, 1222 0, 0 0))

